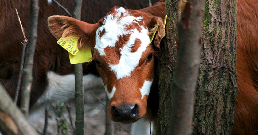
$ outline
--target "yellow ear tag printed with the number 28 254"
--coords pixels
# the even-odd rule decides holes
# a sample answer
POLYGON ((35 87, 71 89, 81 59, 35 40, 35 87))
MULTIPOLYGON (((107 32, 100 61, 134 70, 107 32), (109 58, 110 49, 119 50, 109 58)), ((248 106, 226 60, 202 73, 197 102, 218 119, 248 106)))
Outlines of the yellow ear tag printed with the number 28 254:
POLYGON ((57 44, 65 48, 70 54, 76 55, 79 52, 79 49, 77 47, 78 39, 77 38, 71 38, 71 37, 61 37, 57 44))

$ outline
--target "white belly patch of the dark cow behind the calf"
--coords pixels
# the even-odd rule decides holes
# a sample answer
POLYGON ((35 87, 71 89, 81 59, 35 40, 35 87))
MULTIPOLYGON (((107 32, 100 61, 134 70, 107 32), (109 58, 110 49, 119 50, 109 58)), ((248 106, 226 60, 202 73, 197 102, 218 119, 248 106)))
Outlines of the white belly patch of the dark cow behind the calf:
MULTIPOLYGON (((37 110, 44 109, 50 105, 59 104, 61 101, 67 101, 74 97, 75 80, 74 74, 58 75, 54 72, 48 72, 48 86, 43 95, 37 100, 31 108, 30 114, 37 110)), ((92 88, 103 88, 103 81, 96 75, 88 74, 83 76, 84 90, 92 88)))

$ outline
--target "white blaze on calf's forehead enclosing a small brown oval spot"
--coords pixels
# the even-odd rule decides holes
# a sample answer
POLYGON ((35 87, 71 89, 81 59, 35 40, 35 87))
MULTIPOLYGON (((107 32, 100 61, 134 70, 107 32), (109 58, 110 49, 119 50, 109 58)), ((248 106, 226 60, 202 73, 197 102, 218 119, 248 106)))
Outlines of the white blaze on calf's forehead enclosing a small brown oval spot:
POLYGON ((126 76, 129 77, 131 71, 138 66, 142 53, 146 50, 147 46, 151 44, 150 37, 148 36, 148 29, 145 29, 143 26, 141 26, 141 28, 141 32, 134 29, 127 44, 123 48, 120 48, 121 56, 119 63, 116 65, 109 64, 111 71, 116 74, 116 79, 124 78, 126 76), (131 52, 131 48, 136 39, 141 41, 141 45, 136 52, 131 52))

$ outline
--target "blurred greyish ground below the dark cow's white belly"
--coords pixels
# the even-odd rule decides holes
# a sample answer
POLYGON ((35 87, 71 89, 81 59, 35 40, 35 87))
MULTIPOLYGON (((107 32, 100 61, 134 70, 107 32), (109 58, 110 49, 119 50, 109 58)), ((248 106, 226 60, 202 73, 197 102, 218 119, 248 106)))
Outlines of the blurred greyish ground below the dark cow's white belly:
MULTIPOLYGON (((106 93, 104 90, 86 91, 84 93, 84 135, 104 135, 106 108, 93 95, 96 98, 99 98, 103 104, 106 104, 106 93)), ((46 135, 63 135, 62 130, 64 133, 67 132, 67 135, 73 135, 73 128, 70 123, 70 118, 74 127, 74 99, 63 104, 63 111, 60 111, 61 106, 62 105, 49 108, 48 128, 46 135), (68 109, 70 110, 71 117, 69 117, 68 109), (57 114, 61 114, 60 117, 57 117, 57 114), (59 130, 57 123, 59 123, 59 130)), ((42 110, 41 113, 30 117, 29 122, 31 122, 38 132, 43 133, 45 125, 45 111, 42 110)), ((115 135, 130 135, 131 124, 114 122, 114 127, 115 135)))

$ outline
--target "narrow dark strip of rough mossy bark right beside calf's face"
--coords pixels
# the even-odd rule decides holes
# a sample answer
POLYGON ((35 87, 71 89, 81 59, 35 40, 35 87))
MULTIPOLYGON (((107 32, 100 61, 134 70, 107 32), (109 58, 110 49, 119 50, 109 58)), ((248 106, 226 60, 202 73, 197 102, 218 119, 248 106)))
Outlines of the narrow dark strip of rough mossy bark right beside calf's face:
POLYGON ((166 1, 166 37, 163 38, 163 46, 159 53, 159 110, 157 134, 165 135, 169 125, 170 106, 172 102, 172 82, 176 68, 176 35, 177 35, 177 1, 166 1))

